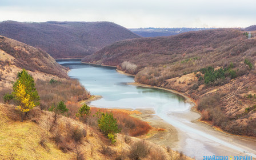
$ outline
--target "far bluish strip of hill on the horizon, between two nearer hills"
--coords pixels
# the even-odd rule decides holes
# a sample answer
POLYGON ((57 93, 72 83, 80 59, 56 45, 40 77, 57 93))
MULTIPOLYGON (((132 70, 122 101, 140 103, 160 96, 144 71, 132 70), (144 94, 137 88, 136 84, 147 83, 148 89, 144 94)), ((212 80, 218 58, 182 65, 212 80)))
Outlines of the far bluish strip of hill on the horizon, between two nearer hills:
POLYGON ((188 31, 199 31, 207 30, 207 28, 139 28, 130 29, 133 33, 141 35, 141 37, 160 37, 160 36, 170 36, 180 33, 185 33, 188 31))

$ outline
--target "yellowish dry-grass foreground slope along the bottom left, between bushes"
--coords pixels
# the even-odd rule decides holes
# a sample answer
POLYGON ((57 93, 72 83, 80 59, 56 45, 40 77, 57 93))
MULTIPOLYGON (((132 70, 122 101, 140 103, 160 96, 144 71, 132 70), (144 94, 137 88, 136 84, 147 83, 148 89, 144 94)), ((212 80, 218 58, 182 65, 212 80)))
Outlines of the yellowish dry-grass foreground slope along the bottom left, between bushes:
MULTIPOLYGON (((19 122, 19 114, 14 106, 0 103, 0 159, 77 159, 77 150, 83 154, 84 159, 114 159, 119 155, 122 155, 123 159, 130 159, 127 155, 131 146, 141 141, 139 138, 130 137, 130 142, 127 142, 125 136, 118 134, 115 145, 110 145, 98 130, 62 116, 57 119, 54 129, 49 130, 54 124, 53 114, 37 108, 29 113, 29 117, 26 121, 19 122), (79 142, 71 138, 70 134, 74 128, 83 129, 87 133, 79 142), (56 131, 61 134, 62 143, 54 142, 56 131), (40 145, 41 139, 45 140, 45 147, 40 145), (108 147, 106 153, 102 146, 108 147)), ((165 147, 145 143, 151 146, 146 159, 163 155, 172 159, 191 159, 175 151, 170 150, 168 153, 165 147)))

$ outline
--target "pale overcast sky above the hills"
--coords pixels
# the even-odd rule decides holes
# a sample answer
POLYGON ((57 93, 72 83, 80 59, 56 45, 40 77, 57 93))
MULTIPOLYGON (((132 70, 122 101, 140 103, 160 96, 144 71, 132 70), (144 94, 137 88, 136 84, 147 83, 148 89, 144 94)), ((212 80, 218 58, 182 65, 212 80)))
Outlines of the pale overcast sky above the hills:
POLYGON ((255 0, 0 0, 0 21, 110 21, 138 27, 256 25, 255 0))

